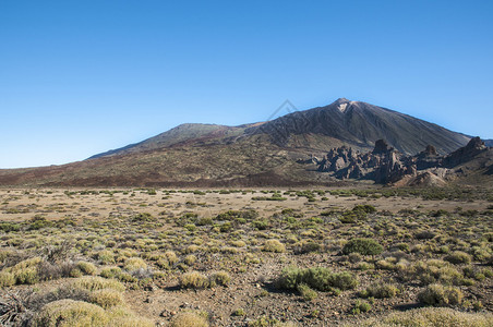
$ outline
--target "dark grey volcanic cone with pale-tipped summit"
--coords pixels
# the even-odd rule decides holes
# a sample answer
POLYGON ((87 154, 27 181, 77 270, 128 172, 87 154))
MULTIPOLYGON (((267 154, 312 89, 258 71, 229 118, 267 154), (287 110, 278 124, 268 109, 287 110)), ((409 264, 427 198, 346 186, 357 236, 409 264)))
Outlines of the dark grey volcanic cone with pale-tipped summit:
POLYGON ((306 134, 325 135, 366 149, 383 138, 408 155, 414 155, 430 144, 440 154, 447 154, 471 138, 397 111, 345 98, 326 107, 284 116, 248 132, 268 134, 274 143, 282 146, 289 146, 293 140, 306 134))

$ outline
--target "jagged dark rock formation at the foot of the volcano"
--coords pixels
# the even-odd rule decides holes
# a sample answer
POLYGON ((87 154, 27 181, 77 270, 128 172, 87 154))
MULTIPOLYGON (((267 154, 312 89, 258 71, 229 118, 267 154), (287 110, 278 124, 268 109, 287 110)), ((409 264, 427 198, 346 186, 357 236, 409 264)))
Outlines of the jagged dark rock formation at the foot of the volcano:
POLYGON ((373 180, 376 183, 397 183, 402 179, 409 185, 442 185, 454 167, 472 160, 488 150, 479 137, 448 156, 438 156, 436 148, 428 145, 416 156, 406 156, 390 147, 384 140, 375 142, 371 153, 362 154, 350 147, 333 148, 318 162, 318 171, 330 172, 337 179, 373 180), (411 179, 412 178, 412 179, 411 179))

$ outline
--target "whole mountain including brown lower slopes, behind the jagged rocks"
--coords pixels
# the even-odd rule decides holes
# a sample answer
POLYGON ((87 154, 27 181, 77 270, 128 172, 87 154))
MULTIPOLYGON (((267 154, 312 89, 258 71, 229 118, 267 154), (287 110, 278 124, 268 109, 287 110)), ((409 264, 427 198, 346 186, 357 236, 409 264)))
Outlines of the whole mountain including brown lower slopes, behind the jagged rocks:
POLYGON ((342 145, 371 149, 380 138, 406 155, 429 144, 443 155, 471 137, 389 109, 338 99, 255 124, 183 124, 69 165, 0 170, 0 185, 332 184, 340 182, 301 162, 342 145))

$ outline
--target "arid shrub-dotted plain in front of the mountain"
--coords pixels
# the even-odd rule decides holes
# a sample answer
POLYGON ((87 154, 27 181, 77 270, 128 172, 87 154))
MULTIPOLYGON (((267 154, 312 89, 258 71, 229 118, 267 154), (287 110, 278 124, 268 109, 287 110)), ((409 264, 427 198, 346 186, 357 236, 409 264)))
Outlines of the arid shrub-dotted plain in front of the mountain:
POLYGON ((2 189, 0 319, 491 326, 492 226, 488 189, 2 189))

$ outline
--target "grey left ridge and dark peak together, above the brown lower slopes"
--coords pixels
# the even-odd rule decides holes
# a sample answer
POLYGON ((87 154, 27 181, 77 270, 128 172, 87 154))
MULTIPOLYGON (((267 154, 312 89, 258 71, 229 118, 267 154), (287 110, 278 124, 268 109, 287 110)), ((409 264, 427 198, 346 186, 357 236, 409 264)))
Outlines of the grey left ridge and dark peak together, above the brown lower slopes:
POLYGON ((472 137, 392 109, 339 98, 324 107, 291 112, 266 122, 238 126, 202 123, 180 124, 142 142, 97 154, 88 159, 133 153, 139 149, 166 148, 180 145, 183 142, 193 143, 194 141, 207 141, 221 136, 244 138, 258 134, 268 135, 270 142, 282 147, 289 147, 290 142, 293 146, 301 146, 299 144, 301 143, 308 148, 313 147, 313 144, 299 140, 298 136, 302 134, 327 138, 325 140, 327 145, 315 146, 314 149, 316 150, 327 150, 332 146, 340 145, 340 142, 361 149, 371 149, 376 140, 385 138, 392 146, 409 155, 418 153, 430 142, 433 143, 432 145, 436 147, 440 154, 447 154, 466 145, 472 137), (341 110, 341 108, 344 109, 341 110), (385 132, 385 130, 387 131, 385 132), (407 134, 402 135, 402 132, 407 132, 407 134))

